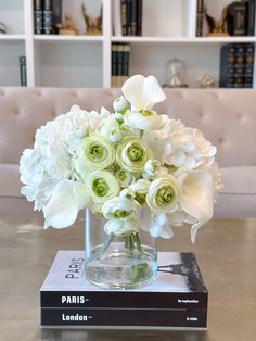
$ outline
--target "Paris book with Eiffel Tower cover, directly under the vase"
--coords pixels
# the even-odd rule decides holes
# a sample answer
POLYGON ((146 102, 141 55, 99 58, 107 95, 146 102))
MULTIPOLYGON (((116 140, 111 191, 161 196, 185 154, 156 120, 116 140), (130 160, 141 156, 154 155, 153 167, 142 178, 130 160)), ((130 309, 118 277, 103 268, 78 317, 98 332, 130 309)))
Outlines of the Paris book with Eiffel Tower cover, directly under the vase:
POLYGON ((207 308, 207 288, 193 253, 158 252, 156 279, 132 290, 87 281, 84 251, 59 251, 40 289, 41 307, 207 308))

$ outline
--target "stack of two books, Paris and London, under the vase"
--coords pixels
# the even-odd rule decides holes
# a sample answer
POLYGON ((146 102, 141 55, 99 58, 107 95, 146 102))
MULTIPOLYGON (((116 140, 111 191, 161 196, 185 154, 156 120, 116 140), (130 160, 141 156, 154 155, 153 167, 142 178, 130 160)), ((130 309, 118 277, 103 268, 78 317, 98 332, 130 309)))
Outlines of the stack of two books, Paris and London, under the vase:
POLYGON ((103 290, 84 276, 85 252, 59 251, 40 289, 41 326, 205 329, 208 292, 194 254, 158 253, 155 281, 103 290))

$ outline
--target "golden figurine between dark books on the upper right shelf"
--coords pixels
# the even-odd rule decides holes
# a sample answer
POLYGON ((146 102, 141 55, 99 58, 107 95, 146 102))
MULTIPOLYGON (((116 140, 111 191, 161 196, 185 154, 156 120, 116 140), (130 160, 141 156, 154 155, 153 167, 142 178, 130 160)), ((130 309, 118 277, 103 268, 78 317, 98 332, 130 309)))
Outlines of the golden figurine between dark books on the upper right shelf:
POLYGON ((207 8, 204 7, 206 22, 209 28, 209 37, 229 36, 227 30, 228 7, 223 7, 221 17, 215 18, 207 13, 207 8))

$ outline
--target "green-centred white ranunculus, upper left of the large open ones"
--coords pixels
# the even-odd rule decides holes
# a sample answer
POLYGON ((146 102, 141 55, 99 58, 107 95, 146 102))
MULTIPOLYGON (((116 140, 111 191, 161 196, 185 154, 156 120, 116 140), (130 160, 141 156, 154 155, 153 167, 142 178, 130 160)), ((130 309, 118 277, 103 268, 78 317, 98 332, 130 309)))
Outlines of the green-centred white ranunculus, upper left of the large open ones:
POLYGON ((82 161, 90 169, 104 169, 115 160, 114 147, 101 136, 89 136, 82 141, 82 161))

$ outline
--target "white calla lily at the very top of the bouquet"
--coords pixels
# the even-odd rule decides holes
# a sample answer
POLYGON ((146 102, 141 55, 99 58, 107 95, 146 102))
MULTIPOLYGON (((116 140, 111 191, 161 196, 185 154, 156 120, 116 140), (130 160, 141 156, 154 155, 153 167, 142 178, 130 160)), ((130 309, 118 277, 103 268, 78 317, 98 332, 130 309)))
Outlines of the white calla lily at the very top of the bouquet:
POLYGON ((136 75, 130 77, 121 88, 131 110, 152 109, 155 103, 166 99, 157 79, 154 76, 136 75))

